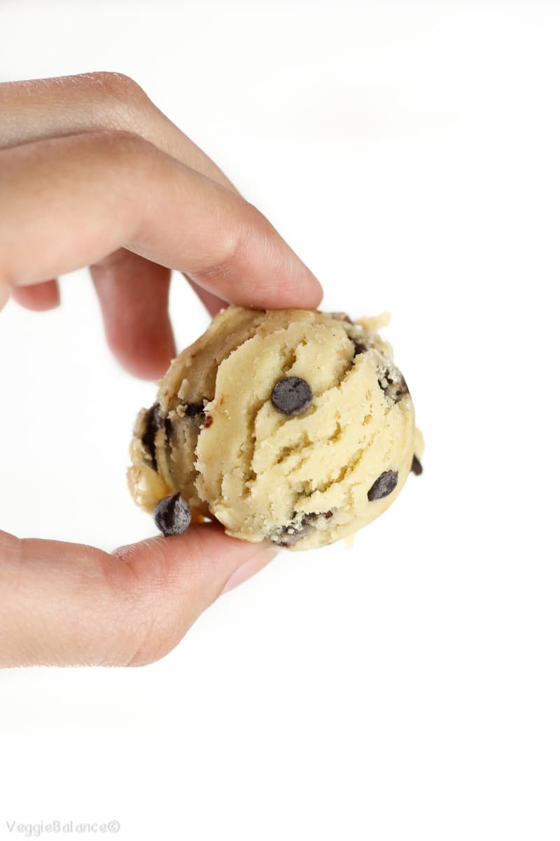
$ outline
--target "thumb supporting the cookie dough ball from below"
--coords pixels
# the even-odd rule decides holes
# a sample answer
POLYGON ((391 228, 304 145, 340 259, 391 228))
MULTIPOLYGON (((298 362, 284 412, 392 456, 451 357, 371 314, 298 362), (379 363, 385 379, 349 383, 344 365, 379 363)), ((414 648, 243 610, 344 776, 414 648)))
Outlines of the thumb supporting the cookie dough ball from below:
POLYGON ((111 555, 0 532, 0 666, 151 663, 275 551, 209 524, 111 555))

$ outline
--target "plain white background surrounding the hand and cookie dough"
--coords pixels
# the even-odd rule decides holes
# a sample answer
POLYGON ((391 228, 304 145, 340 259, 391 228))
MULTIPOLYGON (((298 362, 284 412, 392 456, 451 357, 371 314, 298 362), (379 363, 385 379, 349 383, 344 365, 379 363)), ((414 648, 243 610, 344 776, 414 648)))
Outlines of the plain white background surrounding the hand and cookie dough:
MULTIPOLYGON (((427 441, 352 550, 280 555, 159 664, 1 674, 0 838, 560 838, 559 42, 557 3, 0 3, 3 79, 127 73, 325 309, 392 311, 427 441)), ((62 290, 0 314, 1 521, 111 548, 153 531, 123 475, 154 387, 62 290)))

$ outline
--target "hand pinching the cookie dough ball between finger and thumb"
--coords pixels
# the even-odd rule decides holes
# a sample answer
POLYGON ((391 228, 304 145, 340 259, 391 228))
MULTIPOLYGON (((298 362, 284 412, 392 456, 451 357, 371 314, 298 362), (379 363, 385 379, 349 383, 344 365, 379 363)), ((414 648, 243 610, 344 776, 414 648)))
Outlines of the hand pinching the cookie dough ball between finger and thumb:
MULTIPOLYGON (((211 314, 321 299, 270 222, 135 82, 0 85, 0 306, 12 294, 49 309, 54 278, 83 266, 109 345, 147 378, 175 353, 170 268, 211 314)), ((274 552, 211 524, 111 554, 0 532, 0 665, 150 663, 274 552)))

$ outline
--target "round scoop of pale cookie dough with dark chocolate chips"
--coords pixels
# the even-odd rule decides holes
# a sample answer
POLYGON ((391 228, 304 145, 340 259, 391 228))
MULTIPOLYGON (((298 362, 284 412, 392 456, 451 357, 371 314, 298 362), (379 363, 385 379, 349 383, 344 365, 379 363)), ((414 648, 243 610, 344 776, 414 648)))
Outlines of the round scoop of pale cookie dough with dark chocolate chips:
POLYGON ((134 500, 155 509, 165 534, 183 531, 191 514, 291 549, 325 546, 374 520, 411 470, 421 473, 422 455, 381 321, 223 309, 138 415, 134 500))

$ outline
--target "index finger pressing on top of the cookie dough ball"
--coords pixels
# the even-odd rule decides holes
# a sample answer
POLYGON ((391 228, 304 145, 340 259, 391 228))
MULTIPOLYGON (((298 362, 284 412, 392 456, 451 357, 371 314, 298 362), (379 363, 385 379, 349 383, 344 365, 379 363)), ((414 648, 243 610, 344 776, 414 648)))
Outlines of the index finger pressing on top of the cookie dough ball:
POLYGON ((321 299, 317 279, 258 210, 135 135, 0 152, 0 286, 40 283, 121 246, 229 303, 311 309, 321 299))

